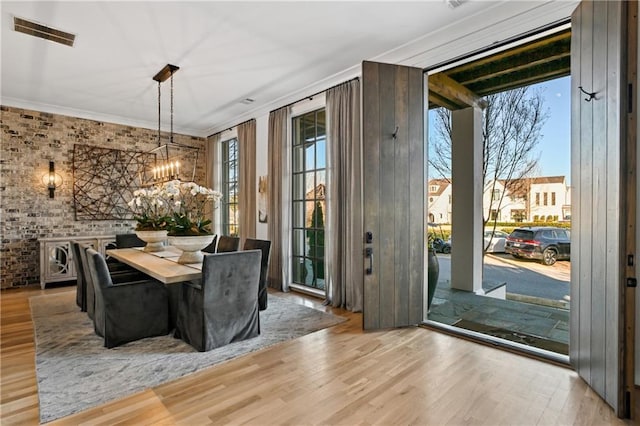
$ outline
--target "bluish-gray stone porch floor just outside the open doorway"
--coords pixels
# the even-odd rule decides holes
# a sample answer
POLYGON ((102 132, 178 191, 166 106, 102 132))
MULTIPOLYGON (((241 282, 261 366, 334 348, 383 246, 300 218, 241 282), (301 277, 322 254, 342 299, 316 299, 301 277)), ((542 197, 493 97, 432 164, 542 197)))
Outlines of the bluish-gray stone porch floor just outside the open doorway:
POLYGON ((448 280, 440 280, 428 319, 568 355, 568 304, 558 307, 538 300, 544 303, 541 305, 510 297, 516 296, 507 294, 506 300, 478 296, 452 289, 448 280))

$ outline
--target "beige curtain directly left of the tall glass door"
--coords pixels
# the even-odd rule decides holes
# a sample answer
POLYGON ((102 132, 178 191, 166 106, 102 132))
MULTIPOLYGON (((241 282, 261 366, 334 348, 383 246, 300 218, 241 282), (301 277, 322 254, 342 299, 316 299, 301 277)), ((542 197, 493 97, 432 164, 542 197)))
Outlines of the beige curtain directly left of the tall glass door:
POLYGON ((291 120, 288 107, 269 114, 268 159, 269 176, 267 197, 268 230, 271 240, 269 261, 269 287, 289 291, 291 282, 291 190, 290 144, 288 125, 291 120))

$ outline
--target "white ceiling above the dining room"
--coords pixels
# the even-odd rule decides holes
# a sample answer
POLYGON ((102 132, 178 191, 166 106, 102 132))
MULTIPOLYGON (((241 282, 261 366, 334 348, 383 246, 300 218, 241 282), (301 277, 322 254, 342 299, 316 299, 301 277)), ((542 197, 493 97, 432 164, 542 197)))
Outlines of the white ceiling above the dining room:
MULTIPOLYGON (((555 15, 539 15, 557 19, 575 1, 449 3, 3 0, 2 104, 153 129, 152 78, 173 64, 174 129, 207 136, 356 76, 362 60, 415 65, 428 40, 444 46, 514 16, 521 25, 508 31, 526 31, 527 12, 553 4, 555 15), (16 32, 14 17, 72 33, 74 45, 16 32)), ((169 81, 161 92, 168 130, 169 81)))

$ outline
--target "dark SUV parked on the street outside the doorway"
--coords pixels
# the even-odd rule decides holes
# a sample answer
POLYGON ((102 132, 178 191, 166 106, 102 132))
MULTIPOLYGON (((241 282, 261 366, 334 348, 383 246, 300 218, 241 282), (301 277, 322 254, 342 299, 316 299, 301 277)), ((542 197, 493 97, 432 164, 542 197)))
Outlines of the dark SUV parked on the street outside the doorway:
POLYGON ((548 226, 516 228, 507 237, 504 251, 515 258, 537 259, 553 265, 556 260, 568 260, 571 256, 569 231, 548 226))

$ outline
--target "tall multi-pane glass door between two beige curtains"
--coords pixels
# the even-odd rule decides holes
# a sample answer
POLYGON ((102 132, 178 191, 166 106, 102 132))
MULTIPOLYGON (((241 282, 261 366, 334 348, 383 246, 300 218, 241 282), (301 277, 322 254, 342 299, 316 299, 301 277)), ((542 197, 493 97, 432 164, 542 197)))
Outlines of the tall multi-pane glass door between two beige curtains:
POLYGON ((324 289, 326 134, 324 109, 293 118, 293 282, 324 289))

